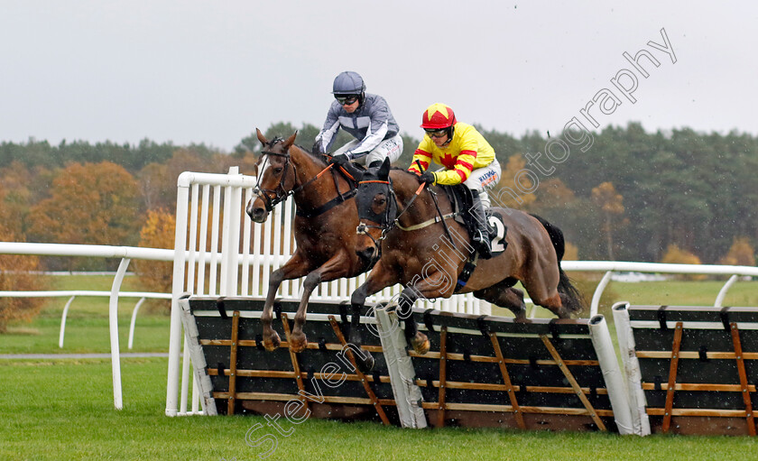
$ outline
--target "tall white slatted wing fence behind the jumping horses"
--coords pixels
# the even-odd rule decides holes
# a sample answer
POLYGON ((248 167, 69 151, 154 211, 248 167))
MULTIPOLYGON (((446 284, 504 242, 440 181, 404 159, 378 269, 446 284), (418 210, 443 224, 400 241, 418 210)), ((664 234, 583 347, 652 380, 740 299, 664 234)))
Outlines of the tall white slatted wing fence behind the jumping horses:
MULTIPOLYGON (((190 356, 188 344, 182 341, 185 335, 181 332, 180 298, 189 293, 263 299, 271 273, 282 267, 294 251, 292 200, 274 207, 272 217, 263 224, 253 223, 245 215, 255 183, 254 176, 239 174, 236 167, 228 174, 184 171, 177 180, 167 416, 204 414, 198 383, 189 378, 190 356)), ((310 300, 338 304, 348 300, 365 278, 364 273, 349 280, 321 283, 310 300)), ((285 300, 300 300, 300 288, 300 280, 284 281, 277 294, 285 300)), ((389 300, 401 290, 401 285, 395 285, 368 301, 389 300)), ((489 303, 477 300, 471 293, 441 300, 440 304, 445 310, 490 312, 489 303)))

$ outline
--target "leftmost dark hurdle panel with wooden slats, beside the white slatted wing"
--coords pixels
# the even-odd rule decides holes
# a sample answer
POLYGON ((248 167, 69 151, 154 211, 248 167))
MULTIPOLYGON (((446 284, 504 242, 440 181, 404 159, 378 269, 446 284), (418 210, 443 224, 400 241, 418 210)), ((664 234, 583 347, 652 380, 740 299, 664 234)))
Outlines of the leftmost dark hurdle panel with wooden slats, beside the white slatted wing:
MULTIPOLYGON (((180 306, 206 414, 278 413, 295 420, 313 416, 397 424, 379 340, 362 347, 374 354, 377 364, 374 373, 361 373, 354 356, 360 351, 347 344, 342 331, 349 316, 339 304, 310 304, 309 334, 318 341, 300 354, 291 351, 289 341, 297 301, 279 300, 274 306, 273 327, 284 332, 284 339, 272 353, 263 350, 260 337, 263 300, 184 297, 180 306), (319 371, 313 368, 314 360, 319 371)), ((362 327, 371 322, 361 320, 362 327)))

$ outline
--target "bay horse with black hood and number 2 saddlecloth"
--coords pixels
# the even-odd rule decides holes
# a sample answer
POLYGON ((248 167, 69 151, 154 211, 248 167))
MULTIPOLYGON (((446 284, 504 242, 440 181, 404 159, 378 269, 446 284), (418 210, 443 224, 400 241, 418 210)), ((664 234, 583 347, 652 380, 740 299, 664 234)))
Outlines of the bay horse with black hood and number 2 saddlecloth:
POLYGON ((517 209, 490 208, 505 227, 500 235, 504 241, 493 244, 494 253, 501 251, 492 259, 478 259, 461 285, 460 274, 474 254, 470 239, 464 226, 449 219, 455 212, 447 194, 439 193, 439 186, 425 186, 415 174, 391 169, 389 161, 364 173, 356 195, 361 221, 356 229, 361 234, 356 252, 364 258, 380 257, 351 296, 354 311, 363 309, 366 297, 402 283, 405 288, 398 300, 398 317, 404 319, 405 335, 414 350, 426 354, 429 339, 411 315, 419 298, 473 292, 480 300, 511 309, 517 321, 526 321, 523 292, 511 288, 521 281, 536 305, 559 318, 569 318, 582 309, 581 295, 560 268, 562 232, 541 217, 517 209))

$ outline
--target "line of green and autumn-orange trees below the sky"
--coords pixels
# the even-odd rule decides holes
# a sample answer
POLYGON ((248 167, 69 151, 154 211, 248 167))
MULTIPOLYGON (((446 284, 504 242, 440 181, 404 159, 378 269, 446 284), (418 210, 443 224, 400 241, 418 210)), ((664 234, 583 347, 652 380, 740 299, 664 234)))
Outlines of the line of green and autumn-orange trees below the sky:
MULTIPOLYGON (((296 130, 296 143, 310 150, 315 125, 276 123, 264 134, 296 130)), ((546 165, 535 159, 546 158, 555 135, 480 131, 503 166, 495 202, 559 226, 579 259, 658 262, 673 248, 703 263, 754 263, 758 138, 751 134, 610 126, 593 133, 586 150, 546 165), (735 247, 747 259, 734 260, 735 247)), ((335 146, 349 139, 340 136, 335 146)), ((396 166, 406 167, 420 134, 402 137, 396 166)), ((233 152, 149 140, 0 143, 0 239, 138 244, 149 217, 173 214, 181 171, 224 173, 236 165, 253 174, 260 147, 254 130, 233 152)))

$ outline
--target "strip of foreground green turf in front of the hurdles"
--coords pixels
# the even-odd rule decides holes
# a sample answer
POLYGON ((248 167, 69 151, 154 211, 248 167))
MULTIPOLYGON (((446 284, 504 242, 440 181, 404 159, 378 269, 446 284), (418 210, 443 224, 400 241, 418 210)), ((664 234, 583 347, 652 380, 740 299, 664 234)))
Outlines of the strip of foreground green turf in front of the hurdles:
MULTIPOLYGON (((123 361, 124 410, 114 410, 107 360, 0 362, 0 459, 259 459, 250 447, 260 417, 164 416, 166 359, 123 361)), ((271 459, 713 459, 755 458, 755 438, 638 438, 600 433, 384 427, 306 420, 278 441, 271 459)))

